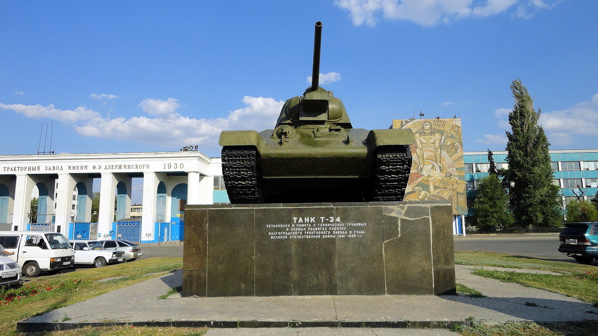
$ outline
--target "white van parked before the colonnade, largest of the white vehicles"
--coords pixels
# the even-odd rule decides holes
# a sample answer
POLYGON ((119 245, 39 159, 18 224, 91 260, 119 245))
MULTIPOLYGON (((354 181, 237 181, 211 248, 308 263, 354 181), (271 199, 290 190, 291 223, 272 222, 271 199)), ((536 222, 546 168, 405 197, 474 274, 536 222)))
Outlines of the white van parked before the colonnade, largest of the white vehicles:
MULTIPOLYGON (((73 267, 75 252, 60 233, 40 231, 0 231, 0 244, 7 255, 23 268, 23 276, 36 277, 41 271, 56 272, 73 267)), ((4 253, 3 253, 4 254, 4 253)))

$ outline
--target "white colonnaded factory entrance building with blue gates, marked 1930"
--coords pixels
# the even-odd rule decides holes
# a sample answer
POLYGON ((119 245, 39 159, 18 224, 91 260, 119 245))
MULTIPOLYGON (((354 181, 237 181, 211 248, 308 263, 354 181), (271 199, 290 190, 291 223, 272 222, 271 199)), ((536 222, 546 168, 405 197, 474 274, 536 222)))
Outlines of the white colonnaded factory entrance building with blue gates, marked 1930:
POLYGON ((221 176, 220 158, 197 151, 1 155, 0 230, 47 227, 73 239, 179 240, 185 204, 228 201, 219 190, 221 176), (143 178, 141 222, 129 218, 133 178, 143 178), (94 179, 100 179, 97 227, 90 224, 94 179), (38 212, 31 216, 34 188, 38 212))

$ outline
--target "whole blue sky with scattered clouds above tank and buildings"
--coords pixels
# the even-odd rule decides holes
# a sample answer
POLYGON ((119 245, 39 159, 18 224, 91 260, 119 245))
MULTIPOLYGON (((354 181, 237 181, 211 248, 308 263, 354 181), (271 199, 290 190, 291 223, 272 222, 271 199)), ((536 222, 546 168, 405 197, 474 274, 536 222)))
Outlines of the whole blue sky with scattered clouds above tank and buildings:
POLYGON ((353 127, 462 118, 465 151, 505 147, 521 78, 553 149, 598 148, 598 2, 0 0, 0 155, 219 155, 221 130, 271 129, 309 86, 324 23, 321 86, 353 127), (328 83, 326 83, 328 81, 328 83))

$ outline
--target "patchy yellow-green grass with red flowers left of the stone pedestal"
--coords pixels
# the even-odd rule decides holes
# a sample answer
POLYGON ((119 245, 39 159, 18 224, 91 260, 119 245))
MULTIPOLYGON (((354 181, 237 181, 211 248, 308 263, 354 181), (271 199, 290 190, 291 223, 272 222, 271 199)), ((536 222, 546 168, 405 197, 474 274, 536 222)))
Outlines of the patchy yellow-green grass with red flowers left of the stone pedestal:
MULTIPOLYGON (((17 321, 28 317, 46 313, 48 311, 68 306, 89 298, 97 297, 106 292, 138 283, 151 277, 182 268, 182 258, 148 258, 138 259, 118 265, 108 265, 101 268, 81 268, 76 272, 57 274, 50 277, 33 278, 26 286, 18 289, 2 289, 0 297, 0 335, 17 335, 17 321), (94 282, 110 277, 125 276, 119 279, 94 282), (36 289, 35 292, 32 289, 36 289), (17 292, 17 294, 14 294, 17 292), (19 295, 18 293, 27 292, 19 295), (13 293, 13 295, 11 295, 13 293)), ((63 321, 69 320, 65 316, 63 321)), ((60 322, 63 322, 60 321, 60 322)), ((157 335, 155 328, 107 328, 106 332, 96 332, 100 328, 77 329, 75 331, 61 331, 44 333, 46 335, 157 335), (130 330, 129 330, 130 329, 130 330), (135 330, 135 332, 132 332, 135 330), (122 331, 122 332, 121 332, 122 331), (124 332, 126 331, 126 332, 124 332), (143 333, 139 332, 142 331, 143 333)), ((167 329, 167 328, 163 328, 167 329)), ((193 331, 168 332, 170 335, 193 335, 192 332, 202 332, 203 329, 193 331)), ((162 333, 162 332, 160 332, 162 333)), ((196 334, 199 335, 199 334, 196 334)))

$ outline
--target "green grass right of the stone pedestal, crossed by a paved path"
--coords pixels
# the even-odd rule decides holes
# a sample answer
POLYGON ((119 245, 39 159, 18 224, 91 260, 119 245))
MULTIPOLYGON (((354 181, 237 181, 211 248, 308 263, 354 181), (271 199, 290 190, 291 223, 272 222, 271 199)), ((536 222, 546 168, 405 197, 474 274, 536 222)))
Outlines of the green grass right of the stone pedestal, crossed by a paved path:
POLYGON ((563 273, 561 276, 555 276, 551 274, 482 269, 474 271, 473 274, 564 294, 587 303, 593 303, 598 307, 598 274, 595 266, 532 259, 494 252, 459 251, 455 252, 454 256, 455 263, 459 265, 498 266, 563 273))

